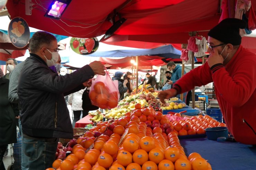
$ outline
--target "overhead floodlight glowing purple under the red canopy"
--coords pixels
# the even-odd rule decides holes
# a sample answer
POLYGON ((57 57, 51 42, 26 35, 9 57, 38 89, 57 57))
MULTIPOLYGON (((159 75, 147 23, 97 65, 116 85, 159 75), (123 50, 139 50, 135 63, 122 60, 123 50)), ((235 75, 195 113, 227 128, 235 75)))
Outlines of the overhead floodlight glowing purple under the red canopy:
POLYGON ((49 6, 45 17, 50 17, 54 19, 60 19, 63 12, 66 10, 67 6, 70 4, 71 0, 54 0, 49 6))

